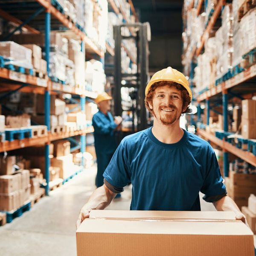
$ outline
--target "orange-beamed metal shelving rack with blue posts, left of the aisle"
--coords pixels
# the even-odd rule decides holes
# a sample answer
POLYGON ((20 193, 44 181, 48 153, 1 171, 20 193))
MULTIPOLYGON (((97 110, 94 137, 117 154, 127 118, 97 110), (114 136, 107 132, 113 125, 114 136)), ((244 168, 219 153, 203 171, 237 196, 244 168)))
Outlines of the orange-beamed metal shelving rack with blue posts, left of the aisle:
MULTIPOLYGON (((87 49, 87 52, 96 54, 99 56, 99 58, 104 57, 104 52, 97 48, 95 44, 88 38, 83 32, 81 32, 74 23, 72 23, 65 15, 63 15, 60 11, 55 9, 52 4, 47 0, 36 0, 29 3, 23 3, 23 1, 12 1, 12 3, 9 3, 9 1, 2 1, 1 2, 1 9, 0 10, 0 16, 5 18, 8 21, 12 21, 12 23, 15 23, 19 29, 21 29, 23 26, 26 28, 29 32, 39 34, 40 31, 38 29, 33 28, 32 26, 29 26, 27 23, 28 21, 31 21, 32 19, 35 19, 35 17, 39 18, 39 21, 36 20, 35 23, 33 23, 33 26, 41 28, 41 30, 44 30, 45 32, 45 59, 47 61, 47 73, 49 73, 49 35, 51 31, 51 15, 52 17, 55 17, 55 20, 53 20, 54 28, 59 28, 59 26, 65 26, 67 29, 70 29, 76 37, 79 37, 82 41, 81 43, 81 50, 84 50, 83 45, 85 44, 85 48, 87 49), (11 5, 10 5, 11 4, 11 5), (16 5, 15 5, 16 4, 16 5), (9 6, 9 8, 8 8, 9 6), (18 14, 17 10, 14 8, 15 6, 18 6, 18 14), (42 6, 44 7, 45 15, 42 17, 41 12, 43 10, 42 6), (7 9, 7 10, 6 10, 7 9), (31 11, 33 13, 31 15, 31 11), (40 12, 39 12, 40 10, 40 12), (39 15, 40 14, 40 15, 39 15), (19 19, 19 16, 21 15, 24 19, 26 18, 26 21, 21 21, 19 19), (40 20, 41 18, 41 20, 40 20), (42 22, 44 23, 42 25, 42 22), (41 24, 39 24, 41 23, 41 24), (43 29, 42 29, 43 27, 43 29)), ((17 29, 16 29, 17 30, 17 29)), ((10 71, 6 68, 0 69, 0 79, 3 80, 3 84, 1 83, 0 91, 7 91, 12 90, 12 92, 20 90, 22 92, 29 92, 29 93, 41 93, 45 96, 45 125, 47 125, 48 128, 48 134, 44 137, 38 137, 38 138, 26 138, 23 140, 14 140, 12 142, 2 142, 0 143, 0 152, 4 151, 10 151, 18 148, 24 148, 32 145, 38 145, 45 143, 45 179, 46 179, 46 194, 48 195, 49 192, 49 144, 53 140, 68 138, 68 137, 74 137, 77 135, 81 136, 81 143, 76 146, 76 148, 81 148, 81 152, 83 153, 85 151, 85 134, 93 132, 92 127, 88 127, 84 129, 83 131, 74 131, 74 132, 63 132, 60 134, 51 134, 50 133, 50 123, 49 123, 49 116, 50 116, 50 94, 61 92, 61 93, 70 93, 74 96, 79 96, 80 98, 80 105, 81 105, 81 111, 85 111, 85 97, 90 98, 96 98, 96 93, 90 92, 90 91, 76 91, 76 90, 68 90, 67 87, 65 87, 63 84, 58 84, 55 82, 52 82, 49 80, 48 77, 45 79, 41 79, 35 76, 25 75, 17 72, 10 71), (3 86, 2 86, 3 85, 3 86)), ((10 93, 8 94, 10 95, 10 93)), ((83 166, 83 160, 82 160, 82 166, 83 166)), ((68 180, 68 179, 67 179, 68 180)))

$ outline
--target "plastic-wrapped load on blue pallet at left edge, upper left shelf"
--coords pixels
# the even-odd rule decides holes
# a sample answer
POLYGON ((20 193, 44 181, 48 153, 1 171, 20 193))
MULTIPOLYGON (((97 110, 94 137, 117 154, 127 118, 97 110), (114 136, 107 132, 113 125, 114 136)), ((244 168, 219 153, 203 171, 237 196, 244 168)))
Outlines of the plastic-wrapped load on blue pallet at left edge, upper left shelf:
POLYGON ((12 41, 0 42, 0 55, 8 59, 5 64, 32 69, 32 50, 12 41))

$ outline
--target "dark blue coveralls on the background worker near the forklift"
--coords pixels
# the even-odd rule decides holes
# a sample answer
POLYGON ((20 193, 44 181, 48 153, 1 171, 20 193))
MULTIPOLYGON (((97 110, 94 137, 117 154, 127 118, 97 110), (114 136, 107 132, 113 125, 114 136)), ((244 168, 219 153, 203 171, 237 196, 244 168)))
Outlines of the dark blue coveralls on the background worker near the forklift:
POLYGON ((110 112, 105 115, 99 111, 93 115, 94 145, 98 166, 95 181, 97 187, 103 185, 103 173, 117 148, 114 135, 116 126, 110 112))

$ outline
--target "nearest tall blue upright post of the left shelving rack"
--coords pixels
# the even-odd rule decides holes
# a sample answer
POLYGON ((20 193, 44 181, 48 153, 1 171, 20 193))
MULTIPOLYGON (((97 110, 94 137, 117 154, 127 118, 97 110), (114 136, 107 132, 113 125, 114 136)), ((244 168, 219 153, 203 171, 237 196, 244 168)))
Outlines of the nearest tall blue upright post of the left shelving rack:
MULTIPOLYGON (((47 74, 49 75, 49 51, 50 51, 50 29, 51 29, 51 14, 47 11, 45 13, 45 59, 47 61, 47 74)), ((50 130, 50 93, 49 90, 45 90, 44 94, 44 122, 47 125, 48 131, 50 130)), ((46 187, 45 194, 49 192, 49 144, 45 145, 45 179, 46 187)))

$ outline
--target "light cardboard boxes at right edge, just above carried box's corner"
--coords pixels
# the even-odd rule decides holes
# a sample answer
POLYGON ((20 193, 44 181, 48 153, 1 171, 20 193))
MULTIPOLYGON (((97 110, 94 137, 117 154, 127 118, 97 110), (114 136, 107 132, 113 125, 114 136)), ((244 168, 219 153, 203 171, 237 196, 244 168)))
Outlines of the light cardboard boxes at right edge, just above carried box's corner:
POLYGON ((256 196, 251 194, 248 198, 248 207, 242 207, 242 213, 247 219, 250 229, 256 234, 256 196))

